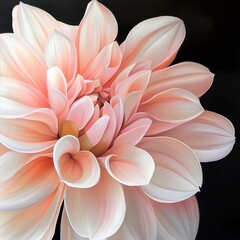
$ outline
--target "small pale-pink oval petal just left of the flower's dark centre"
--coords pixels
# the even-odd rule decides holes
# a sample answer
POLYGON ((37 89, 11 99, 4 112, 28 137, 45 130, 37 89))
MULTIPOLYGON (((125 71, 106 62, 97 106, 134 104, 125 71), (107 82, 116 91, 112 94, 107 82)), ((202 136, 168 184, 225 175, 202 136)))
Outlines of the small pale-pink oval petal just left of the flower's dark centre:
POLYGON ((84 96, 73 103, 67 115, 67 120, 74 122, 81 130, 91 119, 93 112, 94 106, 91 97, 84 96))

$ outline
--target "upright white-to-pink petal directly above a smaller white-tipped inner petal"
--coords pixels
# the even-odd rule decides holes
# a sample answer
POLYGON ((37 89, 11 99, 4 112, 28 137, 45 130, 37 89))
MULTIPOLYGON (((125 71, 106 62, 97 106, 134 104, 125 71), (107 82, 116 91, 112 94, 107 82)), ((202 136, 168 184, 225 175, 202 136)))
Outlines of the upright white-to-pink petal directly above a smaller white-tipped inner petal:
POLYGON ((77 67, 76 49, 73 42, 59 31, 54 31, 46 45, 48 67, 59 67, 69 82, 77 67))

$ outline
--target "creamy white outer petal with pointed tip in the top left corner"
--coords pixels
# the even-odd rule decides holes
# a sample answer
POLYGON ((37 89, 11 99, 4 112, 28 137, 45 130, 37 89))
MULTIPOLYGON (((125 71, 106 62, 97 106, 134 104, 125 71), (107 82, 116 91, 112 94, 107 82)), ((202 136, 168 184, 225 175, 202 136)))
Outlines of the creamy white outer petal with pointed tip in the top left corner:
POLYGON ((56 21, 44 10, 20 2, 13 9, 13 31, 44 53, 48 37, 59 30, 74 39, 76 28, 56 21))

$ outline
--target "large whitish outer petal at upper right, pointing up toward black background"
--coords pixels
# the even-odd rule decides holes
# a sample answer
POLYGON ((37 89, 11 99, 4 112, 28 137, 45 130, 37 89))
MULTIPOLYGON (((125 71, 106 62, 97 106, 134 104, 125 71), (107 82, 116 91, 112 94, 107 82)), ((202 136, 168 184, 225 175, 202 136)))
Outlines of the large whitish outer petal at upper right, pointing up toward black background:
POLYGON ((139 61, 150 61, 152 69, 164 68, 174 59, 184 37, 184 24, 176 17, 145 20, 130 31, 123 43, 120 68, 139 61))

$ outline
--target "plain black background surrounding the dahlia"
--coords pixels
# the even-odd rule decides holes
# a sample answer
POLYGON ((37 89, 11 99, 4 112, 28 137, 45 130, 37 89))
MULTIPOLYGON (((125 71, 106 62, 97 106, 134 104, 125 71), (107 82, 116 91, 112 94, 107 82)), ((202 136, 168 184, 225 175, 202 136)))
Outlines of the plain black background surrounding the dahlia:
MULTIPOLYGON (((48 11, 60 21, 78 24, 87 0, 23 0, 48 11)), ((101 0, 119 24, 118 41, 147 18, 172 15, 186 26, 186 39, 174 63, 195 61, 215 73, 211 89, 201 98, 205 109, 229 118, 236 129, 236 144, 224 159, 204 163, 204 182, 197 194, 200 227, 197 240, 240 239, 240 1, 196 0, 101 0)), ((11 11, 15 0, 0 1, 0 32, 11 32, 11 11)), ((1 46, 0 46, 1 47, 1 46)), ((59 225, 58 229, 59 231, 59 225)), ((54 239, 59 239, 58 234, 54 239)))

